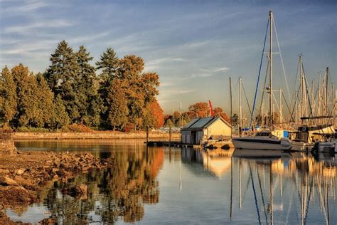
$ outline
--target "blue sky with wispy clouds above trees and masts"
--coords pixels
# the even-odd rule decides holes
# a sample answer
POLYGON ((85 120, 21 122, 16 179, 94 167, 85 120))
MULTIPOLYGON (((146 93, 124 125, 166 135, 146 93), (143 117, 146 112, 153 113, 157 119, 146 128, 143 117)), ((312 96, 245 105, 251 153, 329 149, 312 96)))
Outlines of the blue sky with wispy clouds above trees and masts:
MULTIPOLYGON (((229 112, 230 76, 236 112, 239 77, 250 104, 254 98, 269 10, 281 49, 275 38, 274 89, 289 96, 279 52, 290 95, 298 84, 300 53, 310 83, 318 83, 318 73, 326 67, 331 83, 337 83, 336 6, 336 1, 310 0, 0 0, 0 67, 23 63, 34 73, 44 72, 62 40, 75 51, 84 45, 94 57, 92 65, 111 47, 119 58, 141 56, 145 70, 159 74, 158 100, 164 112, 178 110, 180 102, 186 110, 208 100, 229 112)), ((262 80, 264 75, 265 66, 262 80)), ((248 113, 247 104, 243 110, 248 113)))

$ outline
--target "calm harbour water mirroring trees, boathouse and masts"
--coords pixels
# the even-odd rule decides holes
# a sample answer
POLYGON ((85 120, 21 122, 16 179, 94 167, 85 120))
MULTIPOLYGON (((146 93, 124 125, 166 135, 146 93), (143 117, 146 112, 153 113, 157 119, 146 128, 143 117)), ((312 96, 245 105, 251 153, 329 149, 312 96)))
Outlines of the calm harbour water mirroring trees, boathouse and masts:
POLYGON ((149 147, 139 140, 16 142, 20 150, 92 152, 116 166, 55 182, 12 219, 61 224, 337 224, 337 155, 149 147), (259 158, 264 155, 264 158, 259 158), (87 184, 87 199, 63 187, 87 184))

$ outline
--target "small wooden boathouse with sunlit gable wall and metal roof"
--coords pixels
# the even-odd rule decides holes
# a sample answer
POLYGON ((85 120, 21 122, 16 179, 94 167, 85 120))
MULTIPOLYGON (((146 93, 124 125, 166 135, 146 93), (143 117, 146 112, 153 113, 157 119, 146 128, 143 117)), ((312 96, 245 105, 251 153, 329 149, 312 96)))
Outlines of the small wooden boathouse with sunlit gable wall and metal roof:
POLYGON ((181 128, 181 142, 188 145, 200 145, 215 135, 230 137, 230 123, 222 117, 202 117, 193 119, 181 128))

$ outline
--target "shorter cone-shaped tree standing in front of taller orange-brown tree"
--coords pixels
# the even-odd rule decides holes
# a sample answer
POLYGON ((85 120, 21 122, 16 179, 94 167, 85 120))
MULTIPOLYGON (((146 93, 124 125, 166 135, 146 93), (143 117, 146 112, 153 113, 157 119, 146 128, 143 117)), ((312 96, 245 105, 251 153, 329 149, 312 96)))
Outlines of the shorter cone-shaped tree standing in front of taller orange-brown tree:
POLYGON ((125 97, 123 82, 114 80, 108 94, 108 119, 114 130, 116 127, 122 130, 127 124, 127 98, 125 97))

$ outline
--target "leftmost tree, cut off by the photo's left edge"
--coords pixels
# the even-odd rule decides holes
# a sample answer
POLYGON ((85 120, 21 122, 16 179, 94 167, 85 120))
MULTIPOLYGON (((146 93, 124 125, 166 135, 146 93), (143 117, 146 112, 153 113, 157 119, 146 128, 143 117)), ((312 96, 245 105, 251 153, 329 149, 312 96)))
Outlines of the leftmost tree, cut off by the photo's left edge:
POLYGON ((11 71, 5 66, 0 79, 0 117, 4 120, 4 127, 9 126, 9 122, 16 115, 16 101, 16 83, 11 71))

